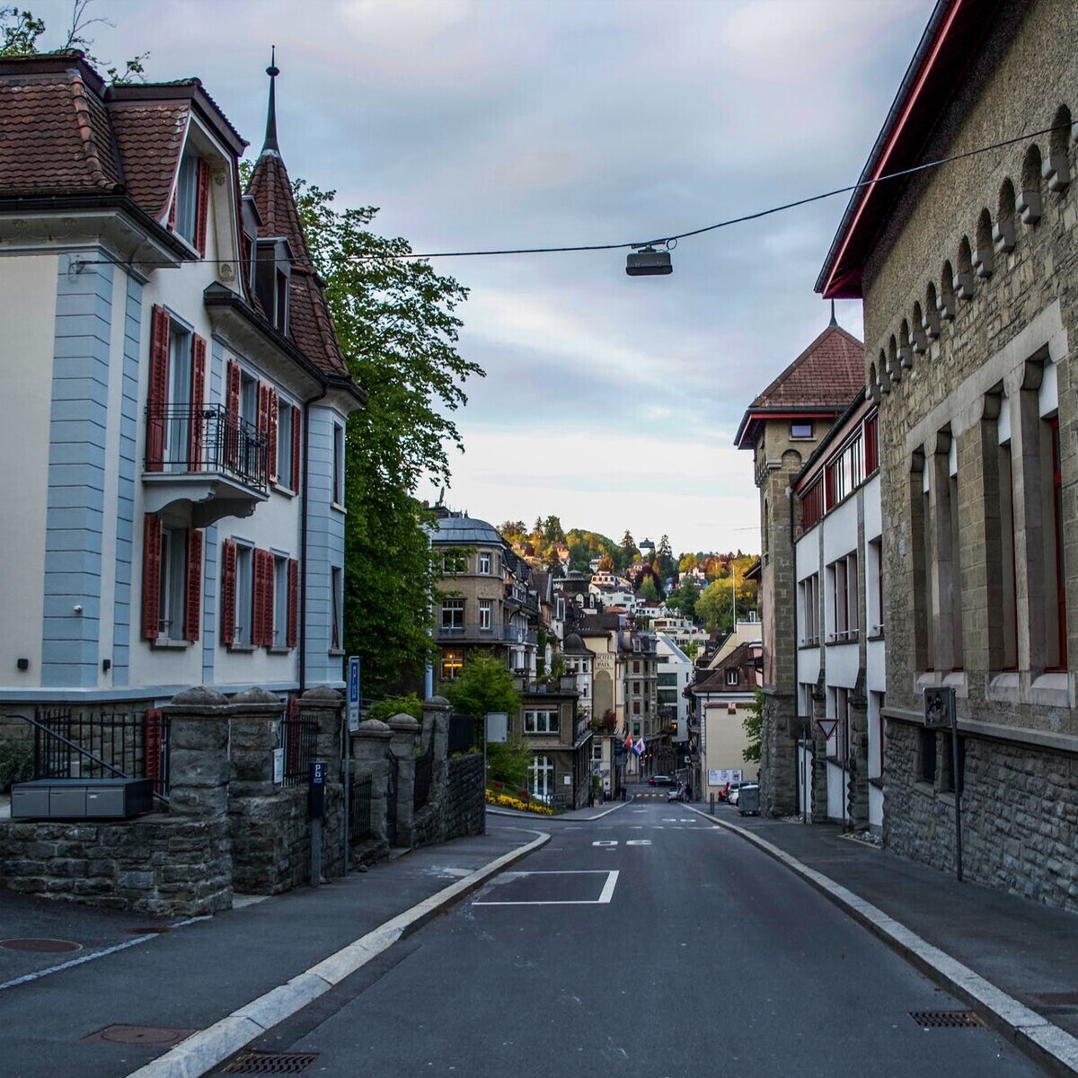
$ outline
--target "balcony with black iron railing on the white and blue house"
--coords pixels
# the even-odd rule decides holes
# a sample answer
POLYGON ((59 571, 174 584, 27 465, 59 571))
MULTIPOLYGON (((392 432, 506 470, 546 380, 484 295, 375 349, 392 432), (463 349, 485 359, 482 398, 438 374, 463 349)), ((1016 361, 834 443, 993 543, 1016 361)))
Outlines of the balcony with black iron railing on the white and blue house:
POLYGON ((146 424, 148 513, 204 528, 268 499, 266 436, 222 404, 147 406, 146 424))

